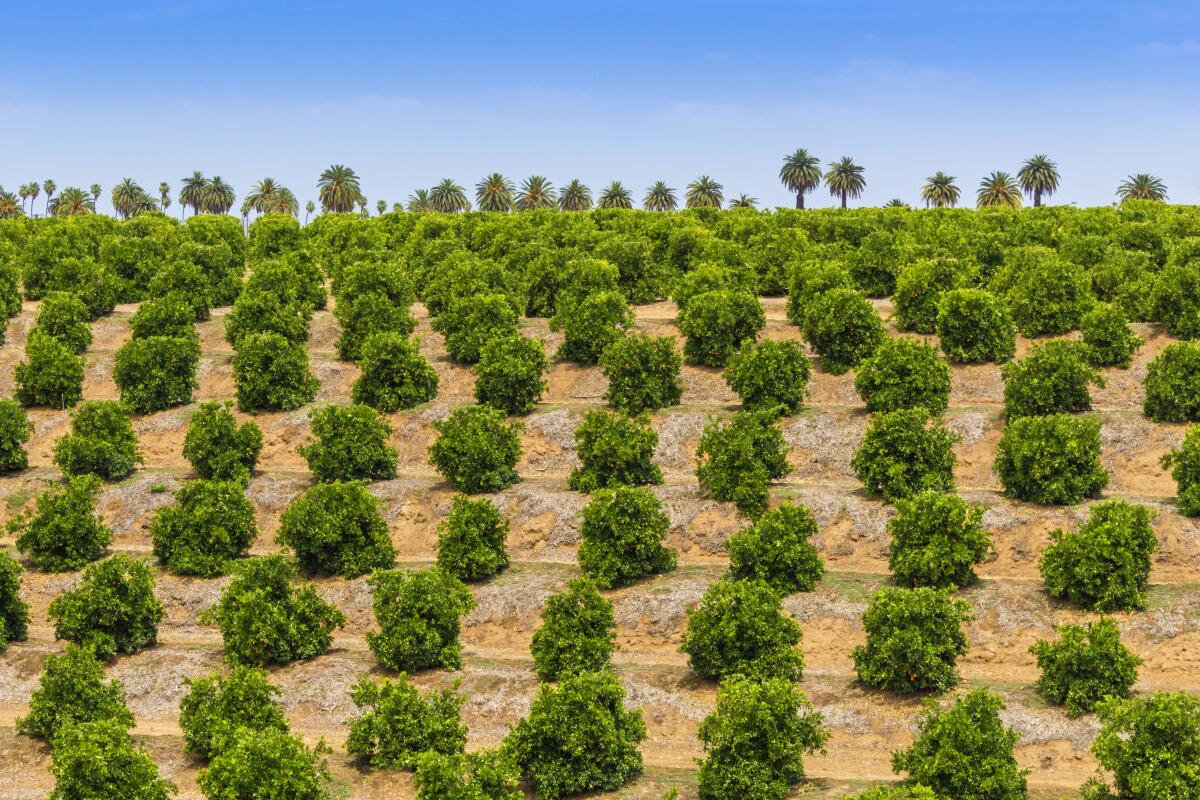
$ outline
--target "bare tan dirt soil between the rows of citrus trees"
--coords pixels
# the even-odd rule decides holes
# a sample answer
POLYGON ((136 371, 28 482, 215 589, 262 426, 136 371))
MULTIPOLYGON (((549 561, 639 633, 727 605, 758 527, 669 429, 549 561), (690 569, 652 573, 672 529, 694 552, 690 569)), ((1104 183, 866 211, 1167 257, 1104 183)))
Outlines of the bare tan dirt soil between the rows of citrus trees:
MULTIPOLYGON (((768 315, 764 336, 799 338, 797 329, 786 323, 781 299, 766 299, 763 305, 768 315)), ((878 302, 878 308, 884 318, 890 314, 886 301, 878 302)), ((122 306, 92 325, 85 398, 116 397, 113 357, 130 336, 133 311, 133 306, 122 306)), ((383 503, 400 560, 419 566, 433 559, 437 524, 452 497, 427 463, 426 449, 433 438, 430 423, 473 401, 473 373, 449 361, 424 309, 416 307, 415 312, 421 348, 438 369, 440 391, 428 405, 391 415, 400 475, 373 485, 372 492, 383 503)), ((13 366, 23 357, 35 314, 36 307, 26 303, 0 349, 4 396, 12 393, 13 366)), ((638 326, 648 332, 677 335, 671 303, 643 306, 637 315, 638 326)), ((234 396, 233 354, 224 341, 222 318, 218 309, 198 326, 203 356, 197 402, 234 396)), ((559 337, 548 331, 545 320, 524 320, 523 326, 553 353, 559 337)), ((1105 371, 1106 386, 1093 391, 1096 414, 1103 421, 1104 463, 1112 479, 1105 497, 1151 506, 1157 512, 1160 546, 1151 576, 1151 608, 1117 619, 1127 644, 1145 660, 1136 691, 1200 690, 1200 670, 1195 668, 1200 660, 1200 528, 1175 512, 1170 503, 1175 485, 1158 465, 1159 457, 1182 439, 1183 426, 1154 425, 1141 415, 1146 365, 1170 339, 1153 326, 1139 326, 1139 332, 1146 344, 1133 366, 1105 371)), ((336 359, 336 339, 332 315, 319 312, 308 345, 313 373, 320 379, 317 404, 348 402, 356 378, 354 365, 336 359)), ((1028 342, 1020 343, 1021 350, 1027 347, 1028 342)), ((528 645, 542 601, 578 571, 577 515, 586 498, 566 488, 566 476, 577 463, 572 433, 588 409, 604 404, 606 381, 599 368, 570 363, 554 363, 547 380, 544 403, 524 419, 518 465, 524 480, 493 498, 511 522, 512 566, 472 588, 478 604, 464 620, 464 668, 416 676, 427 686, 461 681, 468 698, 463 716, 470 727, 472 747, 498 742, 528 711, 538 685, 528 645)), ((702 754, 696 728, 714 705, 715 686, 690 673, 678 646, 686 610, 725 569, 724 542, 746 524, 732 505, 702 498, 694 475, 703 423, 712 415, 737 410, 737 396, 716 369, 684 367, 684 385, 683 403, 653 416, 660 437, 656 462, 666 475, 655 492, 671 517, 668 542, 679 553, 679 569, 608 593, 619 624, 617 669, 629 692, 629 705, 643 710, 649 729, 642 746, 644 776, 612 796, 658 799, 672 787, 683 798, 696 795, 695 759, 702 754)), ((994 554, 979 570, 984 581, 962 593, 976 619, 968 626, 971 649, 961 660, 961 672, 965 687, 988 685, 1007 700, 1004 718, 1021 734, 1018 758, 1032 770, 1031 796, 1075 796, 1079 784, 1096 769, 1088 747, 1097 723, 1090 716, 1070 720, 1032 691, 1037 668, 1028 648, 1038 638, 1052 636, 1055 625, 1088 618, 1051 600, 1037 570, 1050 531, 1076 524, 1087 507, 1040 507, 1002 497, 991 471, 1002 429, 1002 390, 997 366, 954 368, 947 422, 961 437, 956 447, 959 488, 988 509, 984 523, 995 542, 994 554)), ((100 512, 115 534, 114 551, 149 554, 148 525, 154 511, 170 503, 172 492, 191 474, 181 447, 193 410, 194 405, 136 420, 145 464, 130 480, 108 486, 100 500, 100 512)), ((276 549, 280 515, 311 483, 296 452, 307 437, 308 410, 254 415, 265 440, 259 473, 248 489, 259 524, 254 553, 276 549)), ((0 522, 30 507, 46 482, 59 477, 52 449, 68 429, 70 413, 36 409, 30 416, 36 428, 29 444, 30 469, 0 479, 0 522)), ((839 798, 872 782, 894 780, 890 753, 911 741, 922 712, 923 698, 883 694, 857 684, 850 656, 864 639, 859 616, 870 594, 888 581, 886 524, 890 511, 859 491, 850 469, 866 421, 852 375, 833 377, 817 368, 809 405, 782 422, 793 471, 773 487, 773 499, 791 498, 812 510, 822 528, 816 543, 828 569, 815 591, 785 601, 804 630, 806 667, 800 687, 833 730, 826 752, 806 760, 812 781, 800 787, 797 796, 839 798)), ((13 551, 12 536, 0 534, 0 546, 13 551)), ((23 593, 34 614, 30 640, 0 655, 0 798, 42 798, 53 786, 46 747, 16 735, 13 724, 25 712, 46 655, 62 646, 47 622, 47 606, 77 581, 78 573, 29 570, 24 576, 23 593)), ((226 581, 160 572, 157 593, 168 615, 160 628, 158 646, 120 658, 109 668, 124 682, 138 717, 137 738, 163 774, 179 784, 181 798, 200 795, 196 787, 198 765, 182 754, 178 704, 186 678, 221 666, 220 634, 200 625, 197 615, 216 601, 226 581)), ((292 724, 306 740, 324 739, 335 747, 330 765, 348 796, 410 798, 407 774, 362 770, 340 751, 355 715, 348 687, 362 673, 379 672, 362 638, 373 625, 366 584, 362 579, 329 579, 318 581, 317 587, 346 612, 348 624, 329 655, 274 670, 292 724)))

